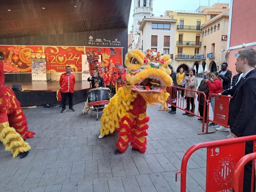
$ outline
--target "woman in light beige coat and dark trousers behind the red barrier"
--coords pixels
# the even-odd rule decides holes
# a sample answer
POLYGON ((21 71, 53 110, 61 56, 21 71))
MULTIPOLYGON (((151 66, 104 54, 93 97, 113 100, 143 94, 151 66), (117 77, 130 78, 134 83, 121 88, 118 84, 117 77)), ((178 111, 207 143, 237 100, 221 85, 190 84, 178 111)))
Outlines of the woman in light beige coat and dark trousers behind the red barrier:
MULTIPOLYGON (((186 84, 185 89, 189 90, 196 90, 196 77, 195 77, 195 70, 189 69, 189 76, 186 77, 186 84)), ((191 104, 191 112, 194 113, 195 111, 195 92, 185 90, 184 96, 186 96, 186 111, 189 111, 190 104, 191 104)), ((188 112, 183 113, 183 115, 187 116, 194 116, 188 112)))

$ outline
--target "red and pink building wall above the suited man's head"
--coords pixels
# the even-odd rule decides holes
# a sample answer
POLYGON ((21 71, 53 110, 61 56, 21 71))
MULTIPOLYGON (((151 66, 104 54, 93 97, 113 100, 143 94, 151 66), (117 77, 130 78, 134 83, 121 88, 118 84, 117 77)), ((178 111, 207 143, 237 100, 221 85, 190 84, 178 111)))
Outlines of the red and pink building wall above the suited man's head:
POLYGON ((253 12, 256 10, 255 0, 231 0, 230 20, 227 36, 227 60, 229 70, 236 74, 236 58, 240 49, 253 48, 256 50, 255 26, 253 12))

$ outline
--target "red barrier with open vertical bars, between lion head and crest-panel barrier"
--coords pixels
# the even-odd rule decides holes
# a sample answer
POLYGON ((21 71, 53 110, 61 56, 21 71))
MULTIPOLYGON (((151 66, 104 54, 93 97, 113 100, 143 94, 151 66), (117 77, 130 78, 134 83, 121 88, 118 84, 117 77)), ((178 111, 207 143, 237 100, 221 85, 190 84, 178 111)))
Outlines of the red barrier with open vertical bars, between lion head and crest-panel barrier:
MULTIPOLYGON (((199 133, 199 134, 209 134, 209 133, 215 133, 215 132, 208 132, 208 129, 206 130, 206 132, 204 132, 204 122, 205 120, 207 120, 207 117, 205 116, 205 111, 207 110, 206 108, 206 104, 207 104, 207 96, 205 95, 204 92, 201 92, 201 91, 197 91, 197 90, 190 90, 190 89, 185 89, 185 88, 181 88, 181 87, 175 87, 175 86, 172 86, 172 87, 167 87, 166 91, 170 94, 169 98, 166 100, 166 103, 169 104, 169 105, 172 105, 182 111, 185 111, 187 113, 190 113, 194 116, 197 116, 201 119, 203 119, 203 123, 202 123, 202 132, 199 133), (189 91, 189 97, 191 98, 192 97, 192 93, 193 94, 196 94, 197 95, 197 98, 198 98, 198 101, 200 101, 201 99, 204 100, 204 111, 203 111, 203 116, 201 116, 199 114, 199 107, 198 107, 198 110, 197 110, 197 113, 195 112, 195 99, 194 98, 194 105, 191 106, 191 111, 189 110, 186 110, 186 106, 187 106, 187 100, 186 99, 180 99, 180 97, 177 96, 177 92, 178 91, 189 91), (183 102, 182 102, 183 100, 183 102), (175 102, 176 101, 176 102, 175 102), (193 112, 192 112, 193 111, 193 112)), ((190 105, 190 104, 189 104, 190 105)), ((198 103, 199 105, 199 103, 198 103)), ((209 113, 208 113, 209 114, 209 113)))

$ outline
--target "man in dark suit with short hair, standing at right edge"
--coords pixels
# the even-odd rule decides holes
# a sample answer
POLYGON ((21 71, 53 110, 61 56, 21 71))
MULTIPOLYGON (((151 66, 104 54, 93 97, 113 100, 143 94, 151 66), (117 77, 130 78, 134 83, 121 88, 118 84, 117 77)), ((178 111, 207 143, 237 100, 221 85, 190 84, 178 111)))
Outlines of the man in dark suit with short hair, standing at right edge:
MULTIPOLYGON (((256 135, 256 50, 242 49, 236 67, 243 74, 233 98, 230 100, 228 138, 256 135)), ((253 141, 246 142, 245 154, 253 152, 253 141)), ((244 166, 244 192, 250 192, 252 162, 244 166)), ((255 191, 255 176, 254 190, 255 191)))

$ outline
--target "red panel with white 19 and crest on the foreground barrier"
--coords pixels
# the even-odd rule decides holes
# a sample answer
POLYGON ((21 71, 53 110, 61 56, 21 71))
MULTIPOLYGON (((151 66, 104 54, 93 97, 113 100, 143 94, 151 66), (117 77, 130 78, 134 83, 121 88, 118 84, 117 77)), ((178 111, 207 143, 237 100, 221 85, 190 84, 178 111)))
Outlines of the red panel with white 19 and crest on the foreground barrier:
MULTIPOLYGON (((236 163, 244 156, 245 143, 207 148, 206 191, 232 192, 231 181, 236 163)), ((243 174, 242 174, 243 175, 243 174)), ((243 187, 243 176, 240 185, 243 187)), ((240 191, 240 190, 239 190, 240 191)), ((242 189, 241 189, 242 191, 242 189)))

